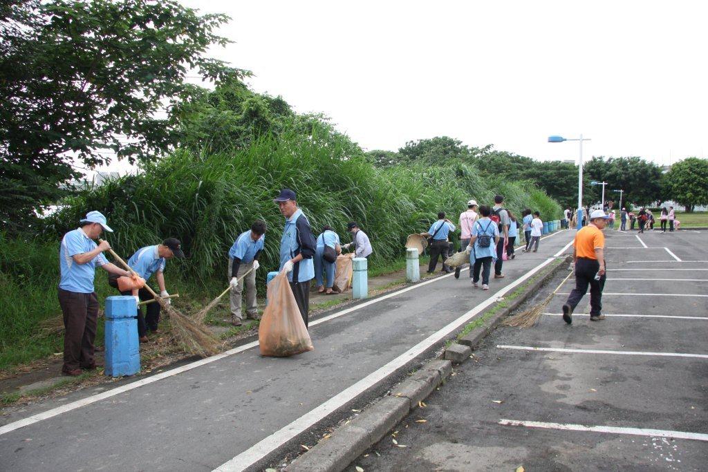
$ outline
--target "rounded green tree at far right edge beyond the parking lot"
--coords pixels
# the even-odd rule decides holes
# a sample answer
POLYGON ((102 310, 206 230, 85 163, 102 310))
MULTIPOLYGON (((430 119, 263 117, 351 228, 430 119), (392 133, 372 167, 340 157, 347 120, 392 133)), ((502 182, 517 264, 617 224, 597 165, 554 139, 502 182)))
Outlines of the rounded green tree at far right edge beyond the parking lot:
POLYGON ((668 197, 692 212, 696 205, 708 205, 708 159, 689 157, 671 166, 663 176, 668 197))

